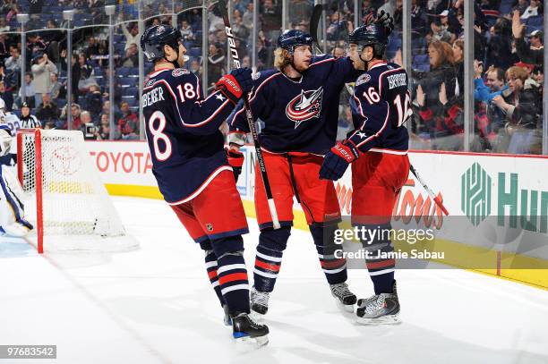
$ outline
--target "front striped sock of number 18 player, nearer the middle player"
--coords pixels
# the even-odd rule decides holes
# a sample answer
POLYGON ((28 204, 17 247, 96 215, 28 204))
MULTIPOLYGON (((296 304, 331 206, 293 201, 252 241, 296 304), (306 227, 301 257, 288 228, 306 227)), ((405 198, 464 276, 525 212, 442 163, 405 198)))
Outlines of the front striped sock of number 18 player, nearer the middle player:
POLYGON ((249 313, 249 282, 241 251, 228 252, 217 258, 218 284, 230 313, 249 313))

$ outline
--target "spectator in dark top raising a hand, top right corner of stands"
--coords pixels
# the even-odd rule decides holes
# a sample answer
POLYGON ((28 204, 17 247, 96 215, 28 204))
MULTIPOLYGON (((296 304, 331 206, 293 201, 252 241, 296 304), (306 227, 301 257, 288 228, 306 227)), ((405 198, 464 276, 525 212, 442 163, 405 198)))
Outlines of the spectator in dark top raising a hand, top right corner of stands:
POLYGON ((524 39, 526 26, 519 20, 518 11, 514 11, 512 18, 512 34, 516 40, 516 52, 519 59, 524 63, 544 64, 544 33, 541 30, 534 30, 529 36, 530 45, 524 39))

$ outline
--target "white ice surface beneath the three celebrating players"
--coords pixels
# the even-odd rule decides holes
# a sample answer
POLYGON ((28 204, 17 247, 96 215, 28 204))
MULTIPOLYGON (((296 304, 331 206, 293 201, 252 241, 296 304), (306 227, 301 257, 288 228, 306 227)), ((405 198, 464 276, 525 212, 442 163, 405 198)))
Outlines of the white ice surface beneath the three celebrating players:
MULTIPOLYGON (((296 229, 270 298, 270 343, 242 354, 203 254, 167 204, 114 200, 140 250, 39 256, 0 242, 0 344, 57 345, 57 360, 0 363, 548 363, 548 292, 460 270, 398 271, 403 323, 358 326, 331 298, 310 234, 296 229)), ((363 270, 348 282, 372 293, 363 270)))

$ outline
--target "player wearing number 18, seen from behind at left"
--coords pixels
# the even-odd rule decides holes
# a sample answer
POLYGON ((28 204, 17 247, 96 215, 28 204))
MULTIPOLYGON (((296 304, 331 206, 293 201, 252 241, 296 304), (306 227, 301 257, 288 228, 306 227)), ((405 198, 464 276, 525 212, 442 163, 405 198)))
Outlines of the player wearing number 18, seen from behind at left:
POLYGON ((206 268, 225 322, 236 340, 268 343, 269 329, 249 317, 249 286, 242 234, 247 222, 224 138, 218 130, 252 88, 251 71, 238 69, 218 80, 204 98, 200 80, 185 69, 181 33, 153 26, 141 49, 154 71, 145 81, 142 106, 152 172, 176 216, 205 250, 206 268), (219 208, 220 207, 220 208, 219 208))

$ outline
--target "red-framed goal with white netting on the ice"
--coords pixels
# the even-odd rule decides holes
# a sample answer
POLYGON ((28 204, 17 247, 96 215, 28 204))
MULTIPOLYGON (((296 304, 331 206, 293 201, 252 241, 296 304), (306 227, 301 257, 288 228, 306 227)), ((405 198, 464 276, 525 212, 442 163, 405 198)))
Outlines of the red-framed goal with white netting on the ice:
POLYGON ((40 253, 137 248, 91 164, 81 131, 18 131, 17 156, 25 216, 34 224, 40 253))

